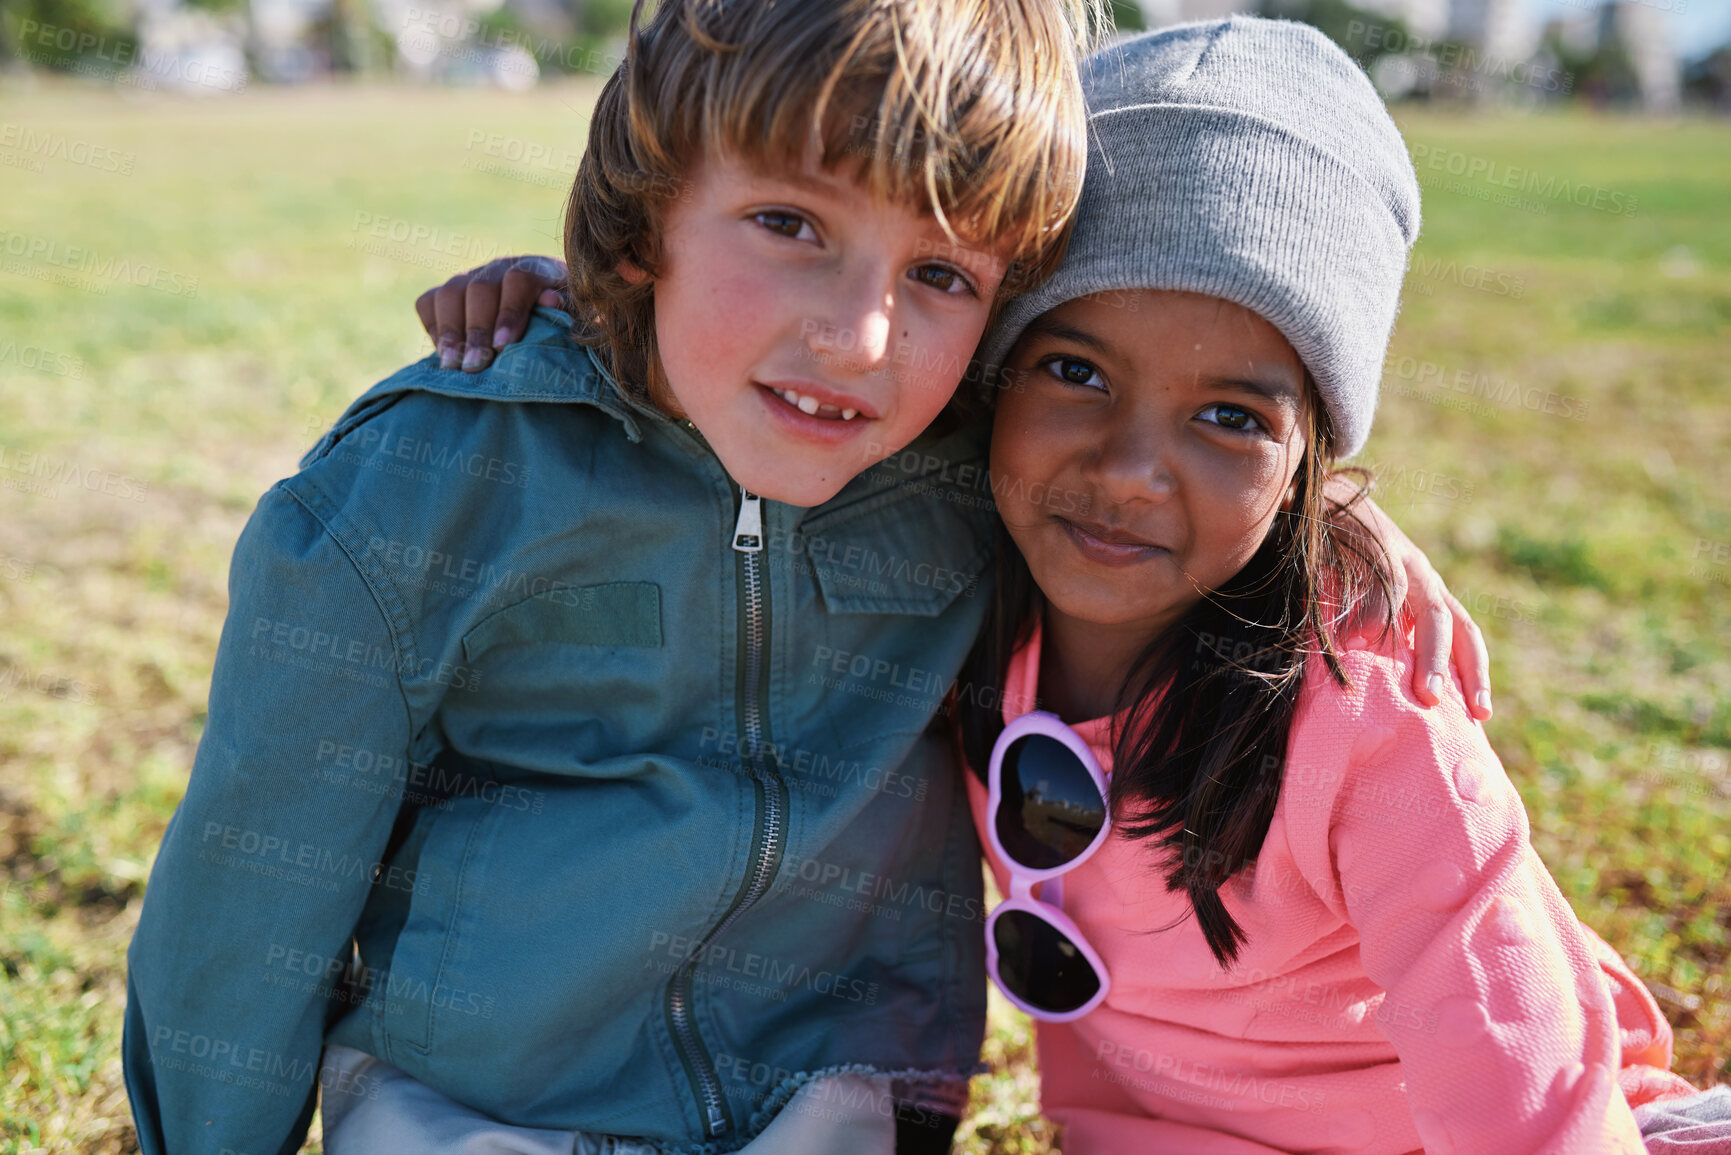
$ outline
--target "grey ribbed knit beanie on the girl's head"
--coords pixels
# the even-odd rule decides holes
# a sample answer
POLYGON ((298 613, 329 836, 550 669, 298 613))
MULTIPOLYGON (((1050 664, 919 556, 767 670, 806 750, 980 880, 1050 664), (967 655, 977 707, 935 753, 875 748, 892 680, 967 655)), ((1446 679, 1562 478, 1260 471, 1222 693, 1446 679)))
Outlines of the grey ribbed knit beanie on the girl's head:
POLYGON ((1184 289, 1262 315, 1310 369, 1333 454, 1376 412, 1418 178, 1376 88, 1309 24, 1179 24, 1084 64, 1089 161, 1058 272, 981 348, 1002 364, 1040 313, 1091 293, 1184 289))

